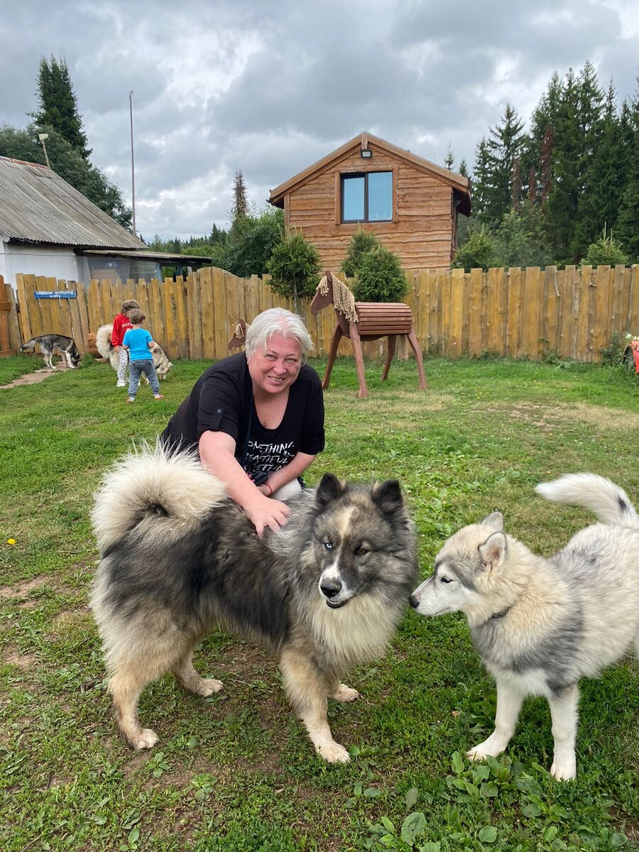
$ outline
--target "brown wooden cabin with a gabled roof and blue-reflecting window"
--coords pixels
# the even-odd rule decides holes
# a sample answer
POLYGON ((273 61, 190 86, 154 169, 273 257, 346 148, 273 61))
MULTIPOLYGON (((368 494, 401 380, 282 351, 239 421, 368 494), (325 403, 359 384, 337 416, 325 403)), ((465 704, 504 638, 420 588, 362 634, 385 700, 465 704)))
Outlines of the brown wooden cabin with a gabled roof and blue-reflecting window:
POLYGON ((268 200, 334 270, 358 228, 376 233, 405 269, 447 268, 458 214, 470 215, 468 178, 370 133, 281 183, 268 200))

